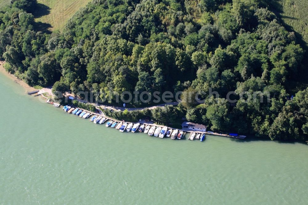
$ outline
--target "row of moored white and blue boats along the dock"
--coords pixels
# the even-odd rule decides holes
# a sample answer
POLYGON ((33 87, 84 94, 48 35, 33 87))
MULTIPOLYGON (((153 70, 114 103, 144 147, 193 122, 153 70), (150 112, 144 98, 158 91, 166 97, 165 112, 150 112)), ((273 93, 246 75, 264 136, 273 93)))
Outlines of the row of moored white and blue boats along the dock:
MULTIPOLYGON (((65 112, 71 113, 73 115, 77 115, 79 117, 82 117, 84 119, 89 118, 92 113, 91 112, 87 112, 87 111, 83 111, 79 108, 74 108, 71 106, 64 106, 63 110, 65 112)), ((99 124, 103 124, 108 120, 108 118, 100 116, 100 115, 94 115, 91 116, 90 121, 94 122, 95 124, 99 123, 99 124)), ((126 122, 117 122, 117 121, 113 121, 110 120, 106 123, 106 127, 112 127, 115 128, 117 130, 119 130, 120 132, 144 132, 146 134, 148 134, 149 136, 155 136, 155 137, 159 137, 159 138, 164 138, 164 137, 170 137, 171 139, 182 139, 184 137, 184 132, 178 129, 172 130, 168 127, 159 127, 159 126, 155 126, 155 125, 147 125, 147 124, 140 124, 140 123, 126 123, 126 122)), ((193 139, 200 139, 200 141, 204 141, 205 139, 205 134, 201 134, 198 133, 196 135, 196 133, 193 133, 193 137, 191 135, 191 137, 189 138, 190 140, 193 139)))

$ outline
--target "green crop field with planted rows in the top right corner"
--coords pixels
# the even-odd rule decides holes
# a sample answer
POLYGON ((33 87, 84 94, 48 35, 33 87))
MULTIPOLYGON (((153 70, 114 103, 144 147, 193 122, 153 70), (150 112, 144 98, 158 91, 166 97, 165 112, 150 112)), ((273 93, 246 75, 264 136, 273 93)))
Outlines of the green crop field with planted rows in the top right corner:
POLYGON ((293 30, 306 50, 304 59, 298 68, 298 82, 290 88, 293 92, 308 87, 308 1, 272 0, 269 3, 288 30, 293 30))

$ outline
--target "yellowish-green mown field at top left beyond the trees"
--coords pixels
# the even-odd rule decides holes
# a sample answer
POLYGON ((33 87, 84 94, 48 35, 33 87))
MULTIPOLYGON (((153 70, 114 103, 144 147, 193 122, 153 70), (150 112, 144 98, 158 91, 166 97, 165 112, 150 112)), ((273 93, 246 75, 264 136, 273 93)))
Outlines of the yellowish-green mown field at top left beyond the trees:
POLYGON ((40 9, 35 13, 36 21, 51 25, 50 30, 61 29, 67 19, 91 0, 38 0, 40 9))

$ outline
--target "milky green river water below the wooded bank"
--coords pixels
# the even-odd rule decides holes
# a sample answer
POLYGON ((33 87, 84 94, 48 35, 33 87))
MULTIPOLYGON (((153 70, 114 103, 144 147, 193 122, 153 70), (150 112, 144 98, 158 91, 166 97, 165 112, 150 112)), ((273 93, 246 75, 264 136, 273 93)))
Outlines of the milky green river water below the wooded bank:
POLYGON ((0 74, 0 204, 307 204, 308 146, 120 133, 0 74))

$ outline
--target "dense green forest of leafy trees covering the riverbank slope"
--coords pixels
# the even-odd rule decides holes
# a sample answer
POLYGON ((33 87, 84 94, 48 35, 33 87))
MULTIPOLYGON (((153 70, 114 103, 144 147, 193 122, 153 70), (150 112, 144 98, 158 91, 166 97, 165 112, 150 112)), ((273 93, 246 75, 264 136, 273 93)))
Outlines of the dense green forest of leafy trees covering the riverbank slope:
POLYGON ((30 86, 110 104, 135 90, 198 93, 202 105, 183 94, 151 115, 170 123, 177 109, 213 131, 308 140, 308 88, 294 89, 306 51, 266 1, 92 0, 53 32, 35 22, 36 0, 11 2, 0 9, 0 58, 30 86))

